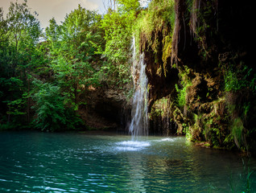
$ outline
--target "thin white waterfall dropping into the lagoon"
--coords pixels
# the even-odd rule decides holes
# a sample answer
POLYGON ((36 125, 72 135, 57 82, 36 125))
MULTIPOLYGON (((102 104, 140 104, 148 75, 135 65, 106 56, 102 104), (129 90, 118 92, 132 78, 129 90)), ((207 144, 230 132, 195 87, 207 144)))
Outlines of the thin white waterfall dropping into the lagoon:
POLYGON ((134 98, 131 110, 131 123, 129 132, 132 139, 140 135, 148 135, 148 118, 147 118, 147 75, 144 54, 136 57, 135 39, 132 43, 133 48, 133 67, 132 76, 134 79, 134 98))

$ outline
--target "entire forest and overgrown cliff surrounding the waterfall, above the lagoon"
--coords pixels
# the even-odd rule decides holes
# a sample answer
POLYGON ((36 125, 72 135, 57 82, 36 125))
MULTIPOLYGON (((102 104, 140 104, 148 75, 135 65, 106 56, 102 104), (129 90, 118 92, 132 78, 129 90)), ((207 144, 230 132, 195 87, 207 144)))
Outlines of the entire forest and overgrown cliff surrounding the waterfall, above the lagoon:
POLYGON ((151 135, 256 153, 252 6, 113 2, 105 14, 79 5, 45 29, 26 0, 0 9, 0 130, 127 131, 135 39, 146 63, 151 135))

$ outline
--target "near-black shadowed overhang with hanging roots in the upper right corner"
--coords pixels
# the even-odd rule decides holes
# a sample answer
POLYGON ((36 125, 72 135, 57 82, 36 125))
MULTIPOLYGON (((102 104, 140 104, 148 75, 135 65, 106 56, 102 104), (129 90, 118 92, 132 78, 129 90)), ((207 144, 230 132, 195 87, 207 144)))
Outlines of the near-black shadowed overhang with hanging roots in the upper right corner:
POLYGON ((253 13, 238 1, 175 0, 171 63, 205 73, 218 68, 218 56, 226 51, 251 57, 253 13))

